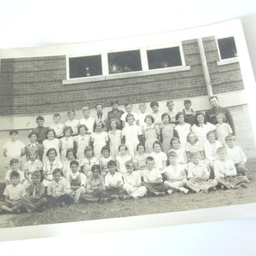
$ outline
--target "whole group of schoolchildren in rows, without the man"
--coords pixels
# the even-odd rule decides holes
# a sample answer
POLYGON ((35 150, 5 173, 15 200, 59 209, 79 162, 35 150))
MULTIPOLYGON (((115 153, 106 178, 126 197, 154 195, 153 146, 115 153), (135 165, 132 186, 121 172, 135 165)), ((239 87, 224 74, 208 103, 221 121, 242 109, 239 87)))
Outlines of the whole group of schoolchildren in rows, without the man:
POLYGON ((235 145, 230 125, 217 114, 217 125, 207 122, 204 113, 195 113, 189 100, 181 112, 172 101, 161 113, 158 102, 151 102, 152 113, 139 105, 140 113, 118 109, 102 113, 96 104, 96 117, 84 107, 84 118, 61 124, 55 113, 54 123, 38 127, 29 134, 26 146, 18 131, 10 131, 3 145, 9 161, 4 201, 0 212, 43 211, 45 207, 88 201, 137 199, 146 195, 188 194, 217 187, 247 187, 247 157, 235 145), (22 156, 26 162, 22 162, 22 156))

